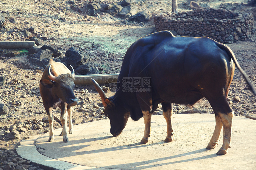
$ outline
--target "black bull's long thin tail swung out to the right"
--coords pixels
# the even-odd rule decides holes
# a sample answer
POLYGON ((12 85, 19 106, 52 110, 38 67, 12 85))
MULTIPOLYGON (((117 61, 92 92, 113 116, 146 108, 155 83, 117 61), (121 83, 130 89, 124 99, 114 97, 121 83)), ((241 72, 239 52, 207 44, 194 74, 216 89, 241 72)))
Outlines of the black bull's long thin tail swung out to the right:
POLYGON ((239 63, 236 60, 235 55, 234 55, 233 51, 230 49, 230 47, 228 47, 227 45, 224 45, 222 43, 219 43, 219 42, 216 42, 216 45, 218 47, 220 47, 222 50, 225 50, 227 52, 227 54, 232 58, 232 60, 234 61, 235 65, 237 66, 238 70, 241 72, 241 74, 245 78, 246 82, 248 83, 249 87, 251 88, 252 93, 256 96, 256 89, 255 89, 252 81, 250 80, 250 78, 247 76, 247 74, 243 71, 243 69, 239 65, 239 63))

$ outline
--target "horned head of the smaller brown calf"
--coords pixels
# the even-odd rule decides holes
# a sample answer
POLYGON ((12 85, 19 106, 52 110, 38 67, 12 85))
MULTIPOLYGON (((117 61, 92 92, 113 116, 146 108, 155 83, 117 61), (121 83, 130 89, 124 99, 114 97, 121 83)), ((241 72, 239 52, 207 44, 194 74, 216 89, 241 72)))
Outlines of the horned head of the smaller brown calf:
MULTIPOLYGON (((70 65, 69 65, 70 66, 70 65)), ((75 72, 72 66, 71 74, 60 74, 58 77, 53 76, 51 74, 51 65, 48 68, 48 79, 41 79, 40 83, 45 88, 52 88, 52 91, 56 92, 56 95, 65 103, 70 106, 74 106, 77 104, 77 98, 74 95, 74 80, 75 80, 75 72)))

